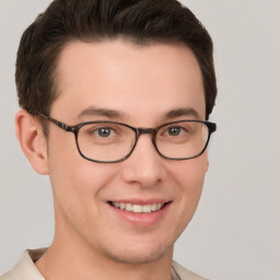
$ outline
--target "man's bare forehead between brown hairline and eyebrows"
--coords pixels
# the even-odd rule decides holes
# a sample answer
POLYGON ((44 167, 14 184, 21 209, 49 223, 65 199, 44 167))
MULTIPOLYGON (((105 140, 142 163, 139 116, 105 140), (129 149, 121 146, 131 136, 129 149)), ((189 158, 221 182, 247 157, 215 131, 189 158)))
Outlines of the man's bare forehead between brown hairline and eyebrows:
POLYGON ((200 68, 183 45, 72 42, 61 51, 58 77, 60 94, 51 114, 57 110, 68 119, 89 107, 132 118, 191 107, 205 117, 200 68))

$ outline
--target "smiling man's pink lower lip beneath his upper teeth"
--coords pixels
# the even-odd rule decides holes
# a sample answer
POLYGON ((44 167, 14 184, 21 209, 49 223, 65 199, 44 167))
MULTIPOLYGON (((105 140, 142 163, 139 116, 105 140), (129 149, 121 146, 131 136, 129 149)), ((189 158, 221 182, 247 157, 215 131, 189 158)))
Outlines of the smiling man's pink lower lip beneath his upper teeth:
POLYGON ((150 213, 135 213, 126 210, 121 210, 112 205, 109 207, 115 211, 115 213, 124 219, 126 222, 135 225, 135 226, 151 226, 153 224, 159 223, 166 215, 167 210, 171 203, 166 203, 161 210, 150 212, 150 213))

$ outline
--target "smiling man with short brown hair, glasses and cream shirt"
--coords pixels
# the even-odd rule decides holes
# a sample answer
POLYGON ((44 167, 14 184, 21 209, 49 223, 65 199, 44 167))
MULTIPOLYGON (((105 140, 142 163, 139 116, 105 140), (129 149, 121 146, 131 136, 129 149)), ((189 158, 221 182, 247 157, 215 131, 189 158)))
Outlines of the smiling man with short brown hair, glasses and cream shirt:
POLYGON ((16 60, 16 136, 56 229, 9 279, 203 279, 173 258, 197 208, 217 95, 212 42, 175 0, 55 0, 16 60))

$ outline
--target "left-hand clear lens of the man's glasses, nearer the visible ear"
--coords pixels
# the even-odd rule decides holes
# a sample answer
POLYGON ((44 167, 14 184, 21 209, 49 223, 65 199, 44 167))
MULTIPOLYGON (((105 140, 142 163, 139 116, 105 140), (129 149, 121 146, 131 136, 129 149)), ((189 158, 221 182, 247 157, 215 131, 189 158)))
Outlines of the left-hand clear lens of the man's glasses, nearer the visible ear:
POLYGON ((129 127, 114 122, 88 124, 80 128, 78 144, 91 160, 114 162, 125 158, 135 143, 136 133, 129 127))

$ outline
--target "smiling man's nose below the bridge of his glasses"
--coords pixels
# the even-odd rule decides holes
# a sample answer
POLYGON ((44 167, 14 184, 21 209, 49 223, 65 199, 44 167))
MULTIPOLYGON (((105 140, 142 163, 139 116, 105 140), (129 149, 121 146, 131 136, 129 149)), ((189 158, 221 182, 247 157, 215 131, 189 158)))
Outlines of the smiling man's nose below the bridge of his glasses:
POLYGON ((122 178, 126 183, 141 187, 155 186, 163 178, 164 160, 156 152, 151 135, 141 135, 132 154, 122 162, 122 178))

